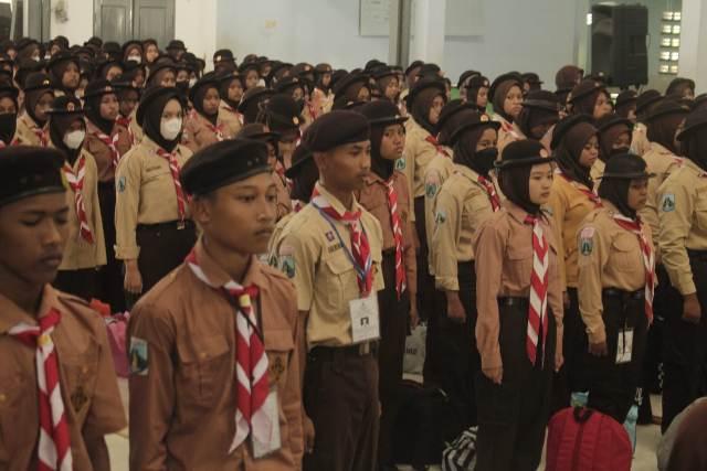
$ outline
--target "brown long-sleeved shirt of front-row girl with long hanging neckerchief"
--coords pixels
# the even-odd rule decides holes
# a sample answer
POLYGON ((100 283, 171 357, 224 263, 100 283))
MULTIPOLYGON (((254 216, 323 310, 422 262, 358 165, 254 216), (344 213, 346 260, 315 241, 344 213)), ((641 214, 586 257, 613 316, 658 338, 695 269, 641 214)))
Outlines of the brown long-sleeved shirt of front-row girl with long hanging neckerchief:
MULTIPOLYGON (((482 224, 474 239, 478 308, 476 344, 484 368, 503 366, 498 344, 498 298, 530 296, 532 225, 524 222, 527 213, 510 201, 505 201, 503 207, 482 224)), ((550 246, 548 306, 555 315, 557 345, 562 345, 562 286, 552 220, 544 216, 540 225, 550 246)))

